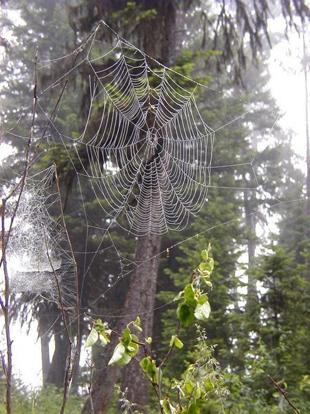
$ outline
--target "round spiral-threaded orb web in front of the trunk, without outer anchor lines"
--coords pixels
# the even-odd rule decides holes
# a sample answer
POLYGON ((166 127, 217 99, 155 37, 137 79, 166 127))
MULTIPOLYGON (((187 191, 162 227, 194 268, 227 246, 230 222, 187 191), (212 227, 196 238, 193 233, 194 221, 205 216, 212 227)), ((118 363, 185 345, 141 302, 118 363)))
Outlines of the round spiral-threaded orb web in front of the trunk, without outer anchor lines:
POLYGON ((98 37, 95 31, 70 70, 88 76, 82 132, 66 135, 54 117, 54 134, 76 175, 90 179, 110 224, 137 236, 183 230, 207 201, 213 168, 214 130, 198 110, 198 83, 118 36, 114 45, 98 37))

